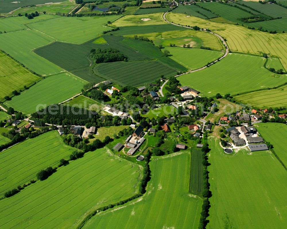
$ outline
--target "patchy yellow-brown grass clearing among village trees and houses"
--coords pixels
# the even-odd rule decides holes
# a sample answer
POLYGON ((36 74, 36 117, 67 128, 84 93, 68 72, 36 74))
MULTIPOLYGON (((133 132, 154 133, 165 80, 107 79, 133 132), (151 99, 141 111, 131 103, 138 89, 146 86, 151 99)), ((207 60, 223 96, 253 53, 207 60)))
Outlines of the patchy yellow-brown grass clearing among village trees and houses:
POLYGON ((217 123, 220 120, 220 117, 225 116, 226 114, 231 114, 235 111, 240 111, 242 106, 232 103, 227 99, 218 99, 217 108, 219 111, 215 113, 209 113, 205 120, 209 120, 210 122, 217 123))

